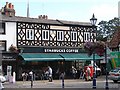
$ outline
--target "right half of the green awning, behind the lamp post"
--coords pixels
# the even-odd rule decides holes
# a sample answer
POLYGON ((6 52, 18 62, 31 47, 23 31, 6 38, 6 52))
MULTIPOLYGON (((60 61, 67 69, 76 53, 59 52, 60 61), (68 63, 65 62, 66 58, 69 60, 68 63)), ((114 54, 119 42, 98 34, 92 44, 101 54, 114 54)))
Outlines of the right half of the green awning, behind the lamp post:
MULTIPOLYGON (((87 53, 78 53, 78 54, 60 54, 66 61, 71 60, 93 60, 93 55, 88 56, 87 53)), ((103 57, 95 54, 95 60, 103 59, 103 57)))

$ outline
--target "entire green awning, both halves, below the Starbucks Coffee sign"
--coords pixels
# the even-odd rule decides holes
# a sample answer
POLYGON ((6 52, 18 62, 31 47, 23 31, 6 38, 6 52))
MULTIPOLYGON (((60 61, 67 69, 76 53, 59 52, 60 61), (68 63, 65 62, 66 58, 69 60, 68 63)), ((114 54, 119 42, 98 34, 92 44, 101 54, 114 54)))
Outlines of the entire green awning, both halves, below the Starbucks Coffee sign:
MULTIPOLYGON (((22 53, 20 56, 25 61, 93 60, 93 55, 89 57, 87 53, 22 53)), ((95 54, 95 60, 100 59, 103 57, 95 54)))

